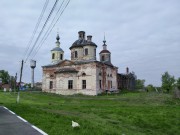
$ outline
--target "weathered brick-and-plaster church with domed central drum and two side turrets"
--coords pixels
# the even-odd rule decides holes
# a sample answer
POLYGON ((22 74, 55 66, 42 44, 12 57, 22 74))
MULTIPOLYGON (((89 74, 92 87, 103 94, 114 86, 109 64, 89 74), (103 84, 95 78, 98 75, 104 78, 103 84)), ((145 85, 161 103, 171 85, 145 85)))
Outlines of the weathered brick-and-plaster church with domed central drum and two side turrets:
POLYGON ((111 52, 104 39, 97 60, 97 45, 92 36, 78 32, 78 39, 70 46, 71 60, 64 59, 57 34, 56 47, 51 50, 51 64, 42 66, 42 91, 61 95, 97 95, 117 91, 118 68, 111 63, 111 52))

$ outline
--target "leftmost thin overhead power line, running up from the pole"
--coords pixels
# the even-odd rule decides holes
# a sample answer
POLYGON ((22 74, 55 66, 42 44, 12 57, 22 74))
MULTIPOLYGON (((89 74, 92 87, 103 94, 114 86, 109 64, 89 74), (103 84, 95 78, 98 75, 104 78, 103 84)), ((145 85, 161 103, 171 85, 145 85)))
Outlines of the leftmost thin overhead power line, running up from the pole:
POLYGON ((26 54, 27 54, 27 52, 28 52, 28 50, 29 50, 29 47, 31 46, 31 43, 32 43, 32 41, 33 41, 33 39, 34 39, 34 36, 35 36, 36 32, 37 32, 37 29, 38 29, 38 27, 39 27, 39 24, 40 24, 40 22, 41 22, 41 20, 42 20, 43 15, 44 15, 44 13, 45 13, 45 10, 46 10, 46 8, 47 8, 48 3, 49 3, 49 0, 46 0, 46 2, 44 3, 43 9, 42 9, 41 14, 40 14, 40 16, 39 16, 39 18, 38 18, 38 22, 36 23, 36 26, 35 26, 35 28, 34 28, 34 30, 33 30, 33 33, 32 33, 32 35, 31 35, 31 38, 30 38, 29 42, 28 42, 28 45, 27 45, 27 47, 26 47, 26 50, 25 50, 25 52, 24 52, 23 57, 26 56, 26 54))

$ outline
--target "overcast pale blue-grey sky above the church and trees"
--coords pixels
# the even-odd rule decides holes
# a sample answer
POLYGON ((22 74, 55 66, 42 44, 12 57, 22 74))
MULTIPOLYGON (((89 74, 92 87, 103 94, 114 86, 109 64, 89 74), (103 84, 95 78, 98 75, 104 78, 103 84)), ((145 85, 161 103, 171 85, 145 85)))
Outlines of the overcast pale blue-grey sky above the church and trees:
MULTIPOLYGON (((50 0, 35 39, 54 2, 50 0)), ((25 50, 44 3, 45 0, 0 1, 0 70, 12 76, 17 72, 18 79, 21 60, 28 54, 25 50)), ((180 0, 71 0, 37 55, 33 57, 32 51, 24 64, 22 81, 31 80, 30 59, 37 62, 35 82, 42 81, 41 66, 51 63, 50 50, 56 46, 57 32, 65 59, 70 59, 69 47, 78 39, 78 31, 93 36, 98 60, 105 33, 112 64, 119 73, 129 67, 138 79, 154 86, 161 86, 161 76, 166 71, 176 79, 180 77, 180 0)))

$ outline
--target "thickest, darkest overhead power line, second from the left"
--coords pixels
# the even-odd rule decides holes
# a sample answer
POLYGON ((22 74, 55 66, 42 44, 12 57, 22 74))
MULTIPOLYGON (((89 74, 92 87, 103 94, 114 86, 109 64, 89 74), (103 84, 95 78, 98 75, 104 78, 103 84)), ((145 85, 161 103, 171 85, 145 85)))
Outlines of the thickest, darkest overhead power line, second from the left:
POLYGON ((33 47, 31 48, 30 52, 28 53, 28 55, 27 55, 27 57, 26 57, 26 59, 25 59, 25 62, 28 60, 29 56, 31 55, 32 51, 34 50, 34 47, 36 46, 36 44, 37 44, 37 42, 38 42, 38 40, 39 40, 39 38, 40 38, 42 32, 44 31, 44 29, 45 29, 45 27, 46 27, 46 25, 47 25, 47 23, 48 23, 48 21, 49 21, 51 15, 52 15, 53 11, 54 11, 54 9, 55 9, 57 3, 58 3, 58 1, 59 1, 59 0, 56 0, 56 1, 55 1, 55 3, 54 3, 54 5, 53 5, 53 7, 52 7, 52 9, 51 9, 51 11, 50 11, 50 13, 49 13, 47 19, 46 19, 46 22, 44 23, 44 25, 43 25, 43 27, 42 27, 42 29, 41 29, 41 31, 40 31, 38 37, 36 38, 36 41, 35 41, 34 44, 33 44, 33 47))

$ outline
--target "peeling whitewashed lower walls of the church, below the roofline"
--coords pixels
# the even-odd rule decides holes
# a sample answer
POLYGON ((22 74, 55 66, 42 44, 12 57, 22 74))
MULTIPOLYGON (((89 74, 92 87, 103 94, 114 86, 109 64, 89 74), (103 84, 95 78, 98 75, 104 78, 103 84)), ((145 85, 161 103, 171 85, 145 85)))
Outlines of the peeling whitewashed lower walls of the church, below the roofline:
POLYGON ((79 65, 62 64, 56 68, 44 68, 42 89, 45 92, 63 95, 78 93, 97 95, 106 90, 115 91, 117 90, 117 68, 96 62, 79 65), (78 72, 54 73, 60 68, 70 67, 75 68, 78 72), (68 80, 73 80, 73 89, 68 89, 68 80), (82 80, 86 80, 86 89, 82 89, 82 80), (99 80, 102 82, 101 89, 99 80), (53 81, 53 89, 49 89, 50 81, 53 81))

